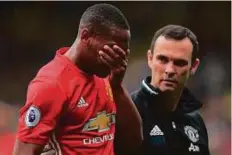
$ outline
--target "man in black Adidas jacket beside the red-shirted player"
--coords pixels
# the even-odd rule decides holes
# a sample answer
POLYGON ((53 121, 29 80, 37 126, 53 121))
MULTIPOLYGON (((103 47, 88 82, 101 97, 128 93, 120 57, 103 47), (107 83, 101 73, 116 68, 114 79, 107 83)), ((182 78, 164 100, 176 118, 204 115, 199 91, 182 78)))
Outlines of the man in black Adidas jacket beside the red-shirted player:
POLYGON ((132 94, 143 120, 144 155, 209 155, 202 104, 185 84, 200 60, 198 41, 188 28, 159 29, 147 52, 151 77, 132 94))

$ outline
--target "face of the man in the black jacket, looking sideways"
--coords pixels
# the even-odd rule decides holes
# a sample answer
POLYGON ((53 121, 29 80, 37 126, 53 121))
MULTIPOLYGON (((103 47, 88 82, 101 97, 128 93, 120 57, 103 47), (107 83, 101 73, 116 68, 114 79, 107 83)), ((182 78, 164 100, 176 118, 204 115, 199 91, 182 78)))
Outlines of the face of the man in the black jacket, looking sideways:
POLYGON ((188 38, 174 40, 158 37, 153 54, 148 51, 151 84, 161 91, 182 90, 191 70, 195 72, 199 65, 193 62, 194 68, 191 67, 192 51, 193 45, 188 38))

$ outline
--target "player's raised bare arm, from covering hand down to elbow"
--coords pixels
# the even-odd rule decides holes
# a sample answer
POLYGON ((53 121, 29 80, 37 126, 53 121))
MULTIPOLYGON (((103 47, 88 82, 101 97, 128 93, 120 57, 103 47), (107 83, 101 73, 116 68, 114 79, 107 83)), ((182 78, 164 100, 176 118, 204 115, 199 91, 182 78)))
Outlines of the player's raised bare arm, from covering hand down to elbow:
POLYGON ((101 60, 111 68, 111 83, 114 101, 117 107, 116 139, 122 148, 136 149, 140 147, 142 136, 142 119, 122 81, 127 67, 128 51, 117 45, 104 47, 100 51, 101 60))

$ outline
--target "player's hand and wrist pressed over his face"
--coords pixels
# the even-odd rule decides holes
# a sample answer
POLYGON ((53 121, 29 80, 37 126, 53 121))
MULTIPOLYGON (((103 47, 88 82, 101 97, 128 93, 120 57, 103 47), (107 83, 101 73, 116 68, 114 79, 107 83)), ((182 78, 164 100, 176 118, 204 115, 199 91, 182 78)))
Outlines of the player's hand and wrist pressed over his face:
POLYGON ((121 86, 127 64, 130 50, 123 50, 118 45, 112 47, 105 45, 103 50, 99 51, 100 59, 111 68, 110 84, 116 88, 121 86))

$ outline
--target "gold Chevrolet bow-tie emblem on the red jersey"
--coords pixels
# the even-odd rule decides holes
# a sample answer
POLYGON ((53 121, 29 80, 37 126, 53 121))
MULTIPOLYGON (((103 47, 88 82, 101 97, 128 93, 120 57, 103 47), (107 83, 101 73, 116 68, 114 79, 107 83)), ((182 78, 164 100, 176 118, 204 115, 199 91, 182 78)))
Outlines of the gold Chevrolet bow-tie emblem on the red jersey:
POLYGON ((111 124, 115 123, 115 114, 106 114, 106 111, 97 113, 95 118, 90 119, 82 131, 98 130, 98 132, 107 131, 110 129, 111 124))

